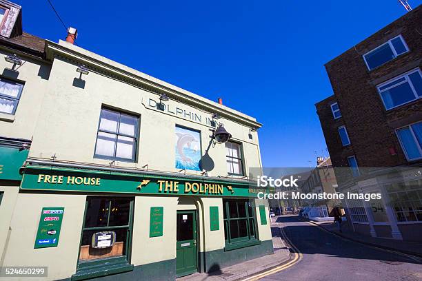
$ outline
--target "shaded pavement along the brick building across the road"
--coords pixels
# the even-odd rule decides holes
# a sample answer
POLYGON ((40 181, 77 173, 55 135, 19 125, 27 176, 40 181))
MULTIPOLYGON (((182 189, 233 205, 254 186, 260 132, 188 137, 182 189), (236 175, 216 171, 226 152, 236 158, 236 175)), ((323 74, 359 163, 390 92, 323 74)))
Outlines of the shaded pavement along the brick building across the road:
MULTIPOLYGON (((307 220, 305 218, 301 219, 307 220)), ((361 242, 363 244, 368 244, 374 247, 381 247, 383 249, 388 249, 392 251, 400 251, 402 253, 407 253, 422 258, 422 242, 401 241, 395 239, 376 238, 368 236, 362 233, 354 232, 347 222, 343 222, 343 224, 341 225, 341 232, 339 231, 338 226, 334 222, 310 222, 312 222, 314 225, 323 227, 324 229, 331 231, 332 233, 338 236, 348 238, 355 242, 361 242)))

